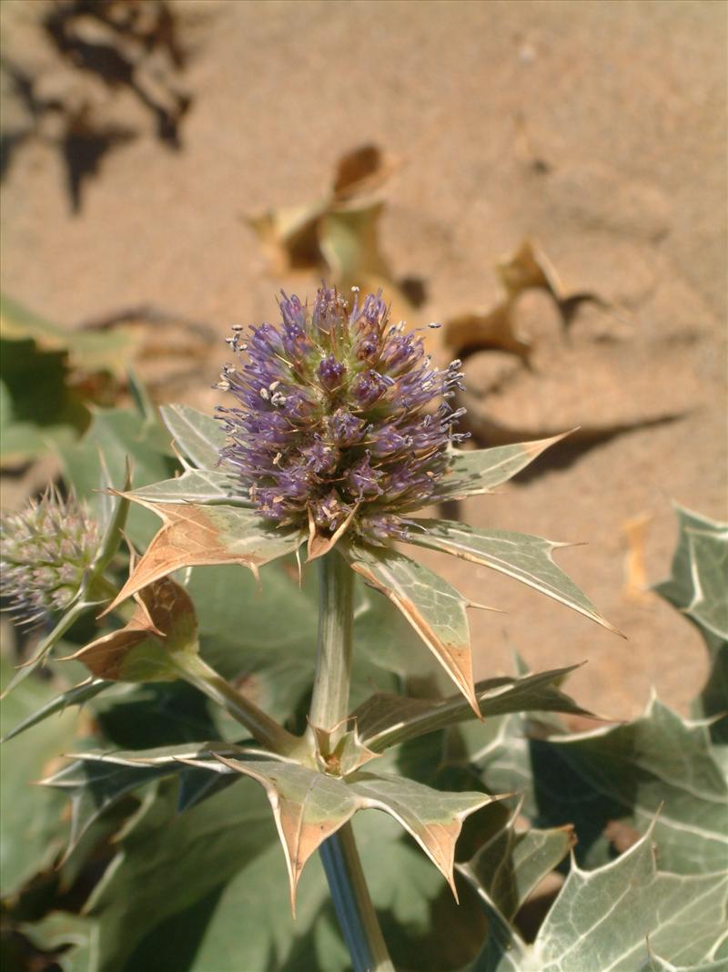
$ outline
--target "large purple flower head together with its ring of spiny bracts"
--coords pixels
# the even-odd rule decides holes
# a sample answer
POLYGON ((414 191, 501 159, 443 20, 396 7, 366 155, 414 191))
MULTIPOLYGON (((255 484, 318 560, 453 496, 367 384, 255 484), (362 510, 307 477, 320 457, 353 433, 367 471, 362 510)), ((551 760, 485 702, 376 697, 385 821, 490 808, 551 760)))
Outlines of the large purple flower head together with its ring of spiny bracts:
MULTIPOLYGON (((185 566, 255 572, 304 542, 309 561, 336 550, 403 611, 476 713, 467 608, 477 606, 394 540, 510 574, 609 627, 553 562, 559 544, 414 518, 423 506, 489 492, 554 439, 458 452, 465 435, 454 431, 461 410, 450 399, 459 362, 433 367, 421 338, 390 324, 381 295, 360 304, 355 294, 349 309, 324 288, 313 306, 283 296, 280 307, 280 327, 230 338, 240 360, 225 365, 218 387, 235 404, 220 407, 218 426, 168 412, 188 469, 179 483, 129 495, 164 525, 115 604, 185 566)), ((337 587, 335 602, 343 596, 337 587)))

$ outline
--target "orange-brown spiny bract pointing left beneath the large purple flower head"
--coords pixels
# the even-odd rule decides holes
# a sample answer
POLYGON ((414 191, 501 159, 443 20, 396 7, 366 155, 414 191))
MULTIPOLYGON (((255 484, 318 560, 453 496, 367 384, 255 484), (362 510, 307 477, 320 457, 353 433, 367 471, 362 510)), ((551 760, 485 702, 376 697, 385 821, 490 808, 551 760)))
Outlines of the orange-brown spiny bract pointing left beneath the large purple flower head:
POLYGON ((258 567, 296 550, 298 530, 276 529, 249 509, 229 505, 141 503, 159 516, 164 526, 107 611, 154 580, 182 567, 241 564, 253 573, 258 567))

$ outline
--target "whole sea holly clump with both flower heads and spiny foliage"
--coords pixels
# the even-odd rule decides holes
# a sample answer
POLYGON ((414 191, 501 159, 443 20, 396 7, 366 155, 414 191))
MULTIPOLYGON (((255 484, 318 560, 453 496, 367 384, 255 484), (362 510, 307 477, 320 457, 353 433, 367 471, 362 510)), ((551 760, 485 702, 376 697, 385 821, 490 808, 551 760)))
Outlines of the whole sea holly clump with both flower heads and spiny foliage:
MULTIPOLYGON (((609 627, 554 563, 558 543, 432 516, 556 440, 462 449, 458 364, 432 366, 380 295, 349 304, 323 289, 280 307, 279 325, 234 330, 219 384, 232 398, 217 418, 162 409, 177 475, 123 483, 115 453, 97 527, 90 507, 60 495, 42 501, 44 516, 6 521, 11 607, 22 593, 61 628, 34 662, 54 679, 64 666, 90 673, 44 690, 40 708, 9 699, 7 737, 78 703, 94 715, 94 738, 34 796, 71 798, 58 881, 115 835, 83 916, 50 912, 22 933, 53 954, 86 942, 87 955, 56 956, 64 972, 128 972, 145 956, 156 967, 178 939, 193 972, 387 969, 392 958, 417 972, 719 967, 725 529, 685 513, 662 587, 714 655, 700 718, 653 700, 635 722, 571 734, 559 713, 587 713, 562 691, 570 670, 474 682, 468 610, 481 606, 416 559, 428 547, 484 565, 609 627), (132 523, 140 511, 161 520, 153 537, 132 523), (140 547, 128 569, 122 537, 140 547), (259 578, 257 601, 238 566, 259 578), (534 941, 518 924, 524 901, 570 853, 534 941), (287 888, 269 886, 283 862, 287 888), (250 886, 261 903, 241 942, 250 886), (203 913, 215 913, 209 936, 189 940, 203 913), (454 930, 435 943, 424 925, 438 914, 454 930), (686 921, 699 932, 689 947, 686 921), (419 951, 403 957, 413 936, 419 951)), ((124 436, 132 452, 137 440, 124 436)), ((78 484, 73 457, 66 465, 78 484)))

